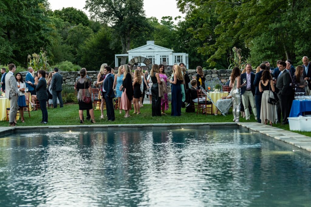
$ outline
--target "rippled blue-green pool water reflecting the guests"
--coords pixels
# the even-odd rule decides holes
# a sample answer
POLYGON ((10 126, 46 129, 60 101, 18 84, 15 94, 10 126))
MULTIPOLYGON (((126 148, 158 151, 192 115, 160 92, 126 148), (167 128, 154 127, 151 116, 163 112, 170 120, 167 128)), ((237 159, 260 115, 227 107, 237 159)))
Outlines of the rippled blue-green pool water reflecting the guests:
POLYGON ((244 129, 0 138, 3 206, 311 206, 311 159, 244 129))

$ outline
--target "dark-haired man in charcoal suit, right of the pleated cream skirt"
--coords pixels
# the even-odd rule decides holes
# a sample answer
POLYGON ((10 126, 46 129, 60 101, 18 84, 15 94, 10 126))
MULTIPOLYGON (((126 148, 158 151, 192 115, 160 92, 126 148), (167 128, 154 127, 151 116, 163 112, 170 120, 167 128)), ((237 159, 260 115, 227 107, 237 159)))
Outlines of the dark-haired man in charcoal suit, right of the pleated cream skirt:
POLYGON ((285 68, 286 63, 284 61, 281 61, 279 64, 280 74, 273 82, 276 84, 276 93, 277 97, 279 98, 279 103, 283 116, 282 124, 288 124, 287 118, 290 114, 290 98, 292 92, 292 88, 290 86, 290 74, 287 70, 285 70, 285 68))

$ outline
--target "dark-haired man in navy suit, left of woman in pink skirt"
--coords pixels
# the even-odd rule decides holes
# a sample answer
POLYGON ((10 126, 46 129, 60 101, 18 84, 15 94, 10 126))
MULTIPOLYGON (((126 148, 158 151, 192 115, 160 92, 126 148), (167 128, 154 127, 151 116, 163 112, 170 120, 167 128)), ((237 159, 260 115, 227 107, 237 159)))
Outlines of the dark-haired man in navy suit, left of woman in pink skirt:
POLYGON ((114 121, 114 77, 111 74, 111 67, 106 66, 104 67, 104 75, 106 76, 103 83, 103 96, 106 101, 106 109, 107 109, 107 117, 108 121, 114 121))

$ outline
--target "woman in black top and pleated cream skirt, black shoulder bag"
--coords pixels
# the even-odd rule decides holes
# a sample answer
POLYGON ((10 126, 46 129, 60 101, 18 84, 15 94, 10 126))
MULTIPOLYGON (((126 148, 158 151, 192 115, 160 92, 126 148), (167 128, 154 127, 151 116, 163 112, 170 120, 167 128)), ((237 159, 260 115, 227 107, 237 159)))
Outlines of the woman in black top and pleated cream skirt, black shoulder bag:
POLYGON ((259 91, 262 93, 261 108, 260 108, 260 119, 262 124, 267 124, 270 121, 270 126, 272 123, 276 123, 276 105, 268 103, 269 97, 275 98, 273 92, 275 91, 272 76, 270 70, 264 70, 262 72, 261 80, 259 83, 259 91), (271 89, 271 91, 270 91, 271 89))

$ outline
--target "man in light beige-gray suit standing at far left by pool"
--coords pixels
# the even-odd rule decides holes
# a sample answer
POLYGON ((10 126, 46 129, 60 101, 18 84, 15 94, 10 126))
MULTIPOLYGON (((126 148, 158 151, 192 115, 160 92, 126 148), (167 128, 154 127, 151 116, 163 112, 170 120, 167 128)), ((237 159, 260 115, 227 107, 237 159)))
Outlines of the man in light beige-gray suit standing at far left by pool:
POLYGON ((17 100, 18 100, 18 88, 16 79, 14 77, 14 73, 16 71, 16 67, 14 64, 9 65, 9 72, 5 76, 5 86, 6 93, 5 97, 10 100, 10 113, 9 113, 9 126, 15 127, 14 119, 16 117, 16 113, 18 110, 17 100))

